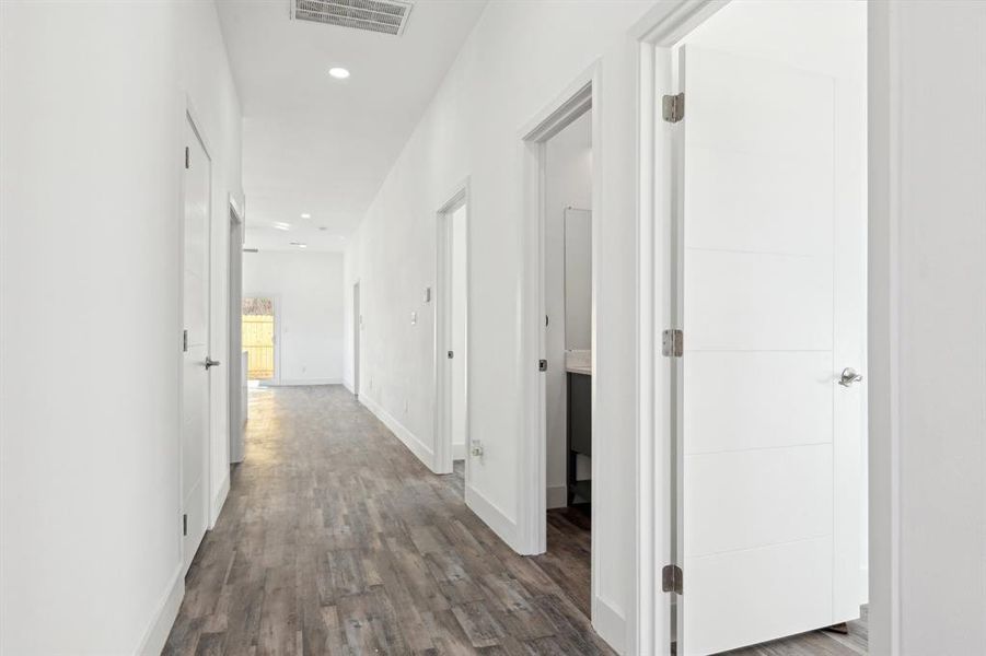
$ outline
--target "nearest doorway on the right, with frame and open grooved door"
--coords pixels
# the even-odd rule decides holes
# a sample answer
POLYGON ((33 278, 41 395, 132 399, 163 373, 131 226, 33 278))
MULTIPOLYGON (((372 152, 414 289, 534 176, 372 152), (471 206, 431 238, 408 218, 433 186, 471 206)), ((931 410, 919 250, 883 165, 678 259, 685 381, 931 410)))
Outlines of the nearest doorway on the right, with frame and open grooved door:
POLYGON ((866 7, 691 10, 641 59, 638 648, 866 653, 866 7))

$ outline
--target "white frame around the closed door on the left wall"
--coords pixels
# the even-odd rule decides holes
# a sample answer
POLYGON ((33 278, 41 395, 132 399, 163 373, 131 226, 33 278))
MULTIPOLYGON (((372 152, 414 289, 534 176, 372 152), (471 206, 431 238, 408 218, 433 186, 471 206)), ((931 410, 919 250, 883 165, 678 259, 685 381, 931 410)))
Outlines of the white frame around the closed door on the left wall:
MULTIPOLYGON (((209 323, 208 336, 206 337, 206 344, 208 355, 211 356, 212 351, 212 342, 214 338, 213 331, 213 302, 214 297, 212 294, 212 284, 214 282, 212 266, 213 266, 213 247, 214 239, 212 238, 213 233, 213 222, 214 222, 214 212, 212 211, 212 197, 216 190, 216 167, 214 167, 214 151, 212 150, 211 142, 209 141, 204 128, 202 122, 198 119, 198 113, 195 110, 195 106, 192 103, 192 98, 186 97, 183 116, 183 128, 184 122, 192 127, 193 132, 195 132, 196 137, 199 140, 199 143, 202 147, 202 150, 206 153, 206 156, 209 159, 209 192, 208 192, 208 212, 209 220, 206 226, 206 234, 209 238, 209 245, 206 248, 206 253, 208 254, 209 260, 206 267, 208 272, 208 281, 206 284, 206 295, 208 298, 208 312, 206 313, 206 320, 209 323)), ((178 221, 178 329, 176 335, 178 339, 182 339, 182 335, 185 331, 185 148, 188 147, 185 143, 185 131, 184 129, 181 131, 181 188, 182 188, 182 202, 181 202, 181 220, 178 221)), ((178 432, 178 524, 177 526, 182 526, 182 515, 185 514, 185 497, 184 497, 184 489, 185 489, 185 471, 182 462, 185 461, 185 445, 184 445, 184 435, 182 434, 185 426, 185 375, 184 375, 184 364, 185 364, 185 351, 181 341, 178 342, 177 349, 178 356, 178 371, 182 372, 178 375, 178 425, 182 426, 182 431, 178 432)), ((213 425, 216 423, 216 414, 221 412, 222 409, 218 407, 217 403, 212 400, 212 376, 211 372, 209 372, 209 376, 207 376, 207 389, 206 396, 208 398, 209 407, 206 409, 206 415, 208 417, 208 421, 206 422, 206 435, 205 435, 205 445, 204 445, 204 457, 202 457, 202 488, 201 488, 201 496, 202 496, 202 509, 205 511, 205 519, 206 519, 206 531, 208 532, 216 525, 216 517, 219 515, 219 509, 216 508, 216 500, 212 497, 212 433, 213 425)), ((228 413, 228 411, 227 411, 228 413)), ((182 552, 182 571, 187 572, 188 566, 192 564, 192 558, 195 554, 185 553, 185 539, 184 534, 181 528, 178 530, 178 546, 182 552)))

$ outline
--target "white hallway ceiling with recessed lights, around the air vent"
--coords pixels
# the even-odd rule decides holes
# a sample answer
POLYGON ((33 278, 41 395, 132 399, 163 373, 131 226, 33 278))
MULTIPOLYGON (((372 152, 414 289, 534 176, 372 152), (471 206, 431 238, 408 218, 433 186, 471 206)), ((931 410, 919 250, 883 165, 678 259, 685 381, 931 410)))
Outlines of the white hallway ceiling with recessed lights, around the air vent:
POLYGON ((218 1, 244 119, 248 247, 345 248, 485 4, 417 0, 391 36, 292 21, 290 0, 218 1), (351 77, 330 78, 336 66, 351 77))

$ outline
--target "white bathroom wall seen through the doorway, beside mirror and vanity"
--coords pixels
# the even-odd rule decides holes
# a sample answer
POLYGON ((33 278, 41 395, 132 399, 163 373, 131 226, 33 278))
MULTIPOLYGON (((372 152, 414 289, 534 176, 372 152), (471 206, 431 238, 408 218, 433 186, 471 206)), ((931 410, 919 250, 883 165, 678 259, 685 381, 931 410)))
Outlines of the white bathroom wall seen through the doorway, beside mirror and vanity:
MULTIPOLYGON (((566 303, 566 208, 592 208, 592 115, 583 114, 553 137, 545 145, 545 220, 544 220, 544 292, 549 317, 545 329, 545 354, 548 361, 546 387, 547 409, 547 500, 548 507, 567 504, 568 395, 565 373, 566 340, 577 330, 567 323, 566 303)), ((578 216, 576 216, 578 219, 578 216)), ((582 259, 584 271, 592 267, 591 253, 582 259)), ((591 282, 584 292, 591 298, 591 282)), ((583 308, 582 349, 591 347, 590 307, 583 308)))

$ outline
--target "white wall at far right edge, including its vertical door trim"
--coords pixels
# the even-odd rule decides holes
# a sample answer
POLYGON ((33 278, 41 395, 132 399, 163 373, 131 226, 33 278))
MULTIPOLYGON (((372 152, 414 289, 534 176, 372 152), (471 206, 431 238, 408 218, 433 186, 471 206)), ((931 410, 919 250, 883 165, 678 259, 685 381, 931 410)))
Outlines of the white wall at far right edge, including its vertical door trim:
POLYGON ((870 25, 870 653, 984 654, 986 4, 870 25))

